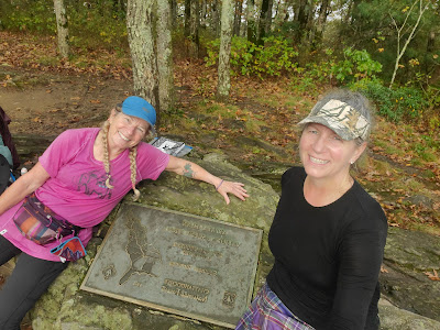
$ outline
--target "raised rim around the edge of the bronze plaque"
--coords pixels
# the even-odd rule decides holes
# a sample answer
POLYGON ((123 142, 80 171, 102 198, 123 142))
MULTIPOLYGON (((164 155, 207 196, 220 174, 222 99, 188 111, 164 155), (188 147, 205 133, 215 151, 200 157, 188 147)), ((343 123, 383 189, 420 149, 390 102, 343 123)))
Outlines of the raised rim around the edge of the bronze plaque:
POLYGON ((99 245, 97 254, 96 254, 92 263, 88 267, 87 274, 86 274, 85 278, 82 279, 82 283, 81 283, 79 289, 85 290, 85 292, 89 292, 89 293, 92 293, 92 294, 98 294, 98 295, 101 295, 101 296, 114 298, 114 299, 118 299, 118 300, 122 300, 122 301, 127 301, 127 302, 144 306, 144 307, 147 307, 147 308, 165 311, 167 314, 172 314, 172 315, 189 318, 191 320, 199 320, 199 321, 212 323, 212 324, 216 324, 216 326, 221 326, 221 327, 226 327, 226 328, 230 328, 230 329, 235 329, 237 324, 227 323, 227 322, 219 321, 219 320, 216 320, 216 319, 211 319, 211 318, 208 318, 208 317, 205 317, 205 316, 200 316, 200 315, 196 315, 196 314, 191 314, 191 312, 186 312, 186 311, 178 310, 178 309, 175 309, 175 308, 169 308, 169 307, 166 307, 166 306, 162 306, 162 305, 157 305, 157 304, 153 304, 153 302, 135 299, 135 298, 130 298, 130 297, 125 297, 125 296, 121 296, 121 295, 118 295, 118 294, 112 294, 112 293, 109 293, 109 292, 105 292, 105 290, 101 290, 101 289, 96 289, 96 288, 91 288, 91 287, 87 287, 86 286, 86 283, 88 280, 89 276, 91 275, 91 268, 92 268, 94 262, 95 262, 95 260, 97 260, 99 257, 99 255, 101 254, 101 252, 103 250, 105 244, 107 244, 107 241, 110 238, 111 231, 113 229, 114 223, 118 220, 118 217, 119 217, 119 215, 121 212, 121 209, 122 209, 123 205, 129 205, 129 206, 132 205, 132 206, 136 206, 136 207, 144 207, 144 208, 150 208, 150 209, 153 209, 153 210, 170 212, 170 213, 175 213, 175 215, 183 215, 183 216, 190 215, 191 217, 200 219, 200 220, 208 220, 208 221, 211 221, 211 222, 217 222, 217 223, 227 224, 227 226, 241 228, 241 229, 246 229, 246 230, 256 232, 257 235, 258 235, 257 239, 260 240, 260 244, 258 244, 258 246, 256 249, 256 252, 257 252, 257 254, 256 254, 257 255, 256 264, 252 268, 252 277, 253 277, 254 280, 251 283, 251 286, 249 288, 249 293, 248 293, 248 297, 246 297, 246 307, 251 304, 252 294, 253 294, 253 290, 254 290, 254 287, 255 287, 256 271, 258 268, 261 245, 262 245, 262 241, 263 241, 263 230, 262 229, 248 227, 248 226, 241 226, 241 224, 237 224, 237 223, 230 223, 230 222, 221 221, 221 220, 218 220, 218 219, 211 219, 211 218, 201 217, 201 216, 197 216, 197 215, 193 215, 193 213, 185 213, 185 212, 182 212, 182 211, 160 208, 160 207, 139 204, 139 202, 132 202, 132 201, 123 201, 118 207, 118 211, 117 211, 117 213, 114 216, 114 220, 112 221, 112 223, 111 223, 111 226, 110 226, 110 228, 109 228, 109 230, 108 230, 108 232, 106 234, 106 238, 103 239, 102 243, 99 245))

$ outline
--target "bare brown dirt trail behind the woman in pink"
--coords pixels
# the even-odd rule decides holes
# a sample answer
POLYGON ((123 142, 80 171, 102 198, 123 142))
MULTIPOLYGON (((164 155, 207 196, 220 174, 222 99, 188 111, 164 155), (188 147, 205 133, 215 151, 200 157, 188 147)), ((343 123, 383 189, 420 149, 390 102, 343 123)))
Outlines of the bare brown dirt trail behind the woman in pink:
POLYGON ((55 136, 66 129, 99 125, 132 92, 128 80, 64 76, 41 80, 47 82, 0 89, 0 107, 12 120, 12 134, 55 136))

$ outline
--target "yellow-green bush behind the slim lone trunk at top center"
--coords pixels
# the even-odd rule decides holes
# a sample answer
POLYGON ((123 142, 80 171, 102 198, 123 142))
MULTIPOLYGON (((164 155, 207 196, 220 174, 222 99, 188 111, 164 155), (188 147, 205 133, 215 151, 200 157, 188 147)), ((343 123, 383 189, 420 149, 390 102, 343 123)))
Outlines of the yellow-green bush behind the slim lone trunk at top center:
MULTIPOLYGON (((296 67, 295 57, 298 53, 289 42, 280 36, 265 37, 264 45, 257 46, 244 37, 232 37, 231 67, 234 73, 260 78, 264 76, 279 76, 296 67)), ((207 66, 212 66, 219 59, 220 40, 208 43, 207 66)))

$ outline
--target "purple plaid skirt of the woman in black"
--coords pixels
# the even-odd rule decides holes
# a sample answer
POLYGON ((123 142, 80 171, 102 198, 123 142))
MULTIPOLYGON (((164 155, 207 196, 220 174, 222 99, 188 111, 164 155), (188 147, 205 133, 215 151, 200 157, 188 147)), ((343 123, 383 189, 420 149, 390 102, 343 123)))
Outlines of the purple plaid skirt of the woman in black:
POLYGON ((241 317, 235 330, 315 330, 315 328, 293 315, 265 283, 241 317))

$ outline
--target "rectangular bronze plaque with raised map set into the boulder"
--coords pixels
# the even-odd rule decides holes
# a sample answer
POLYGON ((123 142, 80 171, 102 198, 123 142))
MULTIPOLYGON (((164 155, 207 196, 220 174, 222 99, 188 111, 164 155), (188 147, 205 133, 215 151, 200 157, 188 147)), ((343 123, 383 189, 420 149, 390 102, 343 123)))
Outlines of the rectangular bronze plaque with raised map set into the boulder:
POLYGON ((258 229, 123 204, 81 289, 234 328, 261 240, 258 229))

